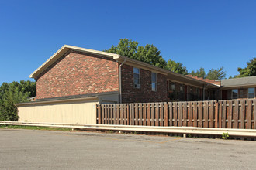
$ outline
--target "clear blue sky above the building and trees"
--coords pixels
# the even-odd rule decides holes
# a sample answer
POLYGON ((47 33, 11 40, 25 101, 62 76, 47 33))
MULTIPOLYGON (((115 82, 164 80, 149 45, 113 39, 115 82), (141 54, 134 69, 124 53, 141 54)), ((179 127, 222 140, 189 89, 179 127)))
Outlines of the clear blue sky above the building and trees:
POLYGON ((29 79, 64 44, 109 49, 121 38, 154 44, 189 71, 256 57, 256 1, 0 0, 0 84, 29 79))

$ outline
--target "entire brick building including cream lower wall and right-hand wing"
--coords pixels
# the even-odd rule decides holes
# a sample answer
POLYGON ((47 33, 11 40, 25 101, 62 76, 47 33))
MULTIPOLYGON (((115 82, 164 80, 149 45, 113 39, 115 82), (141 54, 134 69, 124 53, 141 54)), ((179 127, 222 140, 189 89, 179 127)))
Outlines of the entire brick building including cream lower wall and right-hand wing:
POLYGON ((66 45, 30 77, 37 96, 16 104, 19 121, 96 124, 96 104, 253 98, 256 87, 256 76, 205 80, 66 45))

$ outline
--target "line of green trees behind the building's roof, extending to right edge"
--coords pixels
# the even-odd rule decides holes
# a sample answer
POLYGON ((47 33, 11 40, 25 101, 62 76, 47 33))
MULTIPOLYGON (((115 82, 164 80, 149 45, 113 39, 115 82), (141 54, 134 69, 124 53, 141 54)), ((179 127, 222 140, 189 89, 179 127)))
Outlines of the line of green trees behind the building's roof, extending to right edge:
MULTIPOLYGON (((212 68, 207 73, 203 67, 199 68, 199 70, 192 70, 192 72, 189 73, 187 68, 183 66, 182 63, 175 62, 172 59, 168 59, 168 61, 165 61, 164 58, 161 56, 160 50, 157 49, 157 47, 153 44, 146 44, 146 46, 138 45, 138 42, 131 39, 120 39, 119 43, 116 46, 113 45, 110 49, 106 49, 104 51, 109 53, 116 53, 121 56, 127 56, 131 59, 137 59, 144 63, 149 63, 163 69, 171 70, 175 73, 180 73, 182 75, 190 74, 192 76, 198 76, 209 80, 220 80, 226 78, 226 72, 224 71, 223 66, 220 66, 217 69, 212 68)), ((238 68, 237 70, 240 74, 234 77, 256 76, 255 67, 256 58, 251 59, 251 61, 247 63, 246 68, 238 68)))

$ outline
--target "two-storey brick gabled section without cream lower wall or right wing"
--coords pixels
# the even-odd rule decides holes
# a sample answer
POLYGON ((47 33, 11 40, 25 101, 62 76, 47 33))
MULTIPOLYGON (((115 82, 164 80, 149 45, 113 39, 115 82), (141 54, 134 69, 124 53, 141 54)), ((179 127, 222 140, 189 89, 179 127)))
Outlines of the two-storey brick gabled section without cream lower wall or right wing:
POLYGON ((63 46, 31 75, 37 100, 111 95, 102 103, 218 99, 220 82, 183 76, 126 56, 63 46))

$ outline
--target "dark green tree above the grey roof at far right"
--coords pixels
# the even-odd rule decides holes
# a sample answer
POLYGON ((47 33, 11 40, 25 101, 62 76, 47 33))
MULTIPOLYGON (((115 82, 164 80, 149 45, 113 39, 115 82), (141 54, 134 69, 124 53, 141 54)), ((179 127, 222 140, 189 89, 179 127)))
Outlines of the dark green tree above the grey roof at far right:
POLYGON ((239 75, 235 77, 256 76, 256 58, 254 57, 249 62, 247 62, 247 67, 244 69, 238 67, 237 71, 239 72, 239 75))

